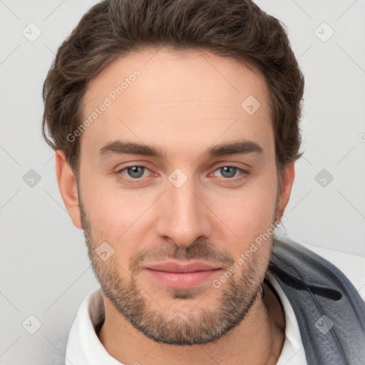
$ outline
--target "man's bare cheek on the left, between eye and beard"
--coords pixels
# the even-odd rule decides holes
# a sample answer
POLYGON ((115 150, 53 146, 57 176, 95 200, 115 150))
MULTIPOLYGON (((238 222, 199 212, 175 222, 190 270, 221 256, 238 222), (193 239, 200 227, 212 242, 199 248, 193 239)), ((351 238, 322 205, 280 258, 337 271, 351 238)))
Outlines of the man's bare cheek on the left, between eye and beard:
POLYGON ((143 225, 148 217, 145 211, 155 199, 151 192, 128 192, 110 184, 110 180, 85 173, 82 201, 91 222, 93 245, 108 242, 118 264, 128 270, 128 258, 138 251, 136 241, 143 242, 143 225))

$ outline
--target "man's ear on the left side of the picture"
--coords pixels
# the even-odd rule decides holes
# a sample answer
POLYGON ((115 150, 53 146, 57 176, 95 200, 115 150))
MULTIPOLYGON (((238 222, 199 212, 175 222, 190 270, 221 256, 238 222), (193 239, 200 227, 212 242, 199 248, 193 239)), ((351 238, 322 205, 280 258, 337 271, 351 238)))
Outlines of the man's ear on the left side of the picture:
POLYGON ((80 208, 78 207, 76 176, 69 167, 66 155, 62 150, 56 151, 56 175, 63 203, 71 217, 73 225, 82 230, 80 208))

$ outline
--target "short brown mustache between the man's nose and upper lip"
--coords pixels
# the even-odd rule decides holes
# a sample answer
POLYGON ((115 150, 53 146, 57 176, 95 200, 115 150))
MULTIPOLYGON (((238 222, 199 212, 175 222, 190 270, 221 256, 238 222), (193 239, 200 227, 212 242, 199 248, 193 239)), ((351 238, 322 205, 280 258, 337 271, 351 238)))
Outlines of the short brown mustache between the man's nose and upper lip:
POLYGON ((187 247, 181 247, 171 243, 152 246, 140 250, 130 258, 130 271, 136 272, 145 261, 162 261, 165 259, 203 260, 215 264, 231 266, 235 259, 227 250, 218 250, 209 241, 195 241, 187 247))

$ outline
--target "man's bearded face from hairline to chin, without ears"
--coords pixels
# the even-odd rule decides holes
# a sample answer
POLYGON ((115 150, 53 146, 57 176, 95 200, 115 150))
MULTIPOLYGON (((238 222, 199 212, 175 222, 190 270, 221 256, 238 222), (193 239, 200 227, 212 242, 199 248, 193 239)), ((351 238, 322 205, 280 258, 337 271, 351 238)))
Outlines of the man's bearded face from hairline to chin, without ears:
POLYGON ((106 305, 155 341, 198 344, 261 293, 272 237, 237 260, 277 219, 274 132, 257 73, 207 52, 156 52, 118 58, 89 84, 84 118, 107 107, 81 135, 82 225, 106 305), (241 153, 216 149, 231 143, 241 153))

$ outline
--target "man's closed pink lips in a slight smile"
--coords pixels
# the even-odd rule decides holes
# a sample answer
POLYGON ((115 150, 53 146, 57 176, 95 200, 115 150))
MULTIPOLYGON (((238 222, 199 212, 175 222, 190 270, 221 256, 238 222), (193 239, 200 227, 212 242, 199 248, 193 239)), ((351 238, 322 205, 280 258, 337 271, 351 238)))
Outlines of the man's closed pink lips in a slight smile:
POLYGON ((205 284, 222 271, 222 267, 198 261, 168 261, 143 268, 150 279, 175 289, 190 289, 205 284))

